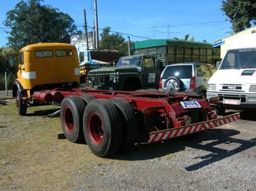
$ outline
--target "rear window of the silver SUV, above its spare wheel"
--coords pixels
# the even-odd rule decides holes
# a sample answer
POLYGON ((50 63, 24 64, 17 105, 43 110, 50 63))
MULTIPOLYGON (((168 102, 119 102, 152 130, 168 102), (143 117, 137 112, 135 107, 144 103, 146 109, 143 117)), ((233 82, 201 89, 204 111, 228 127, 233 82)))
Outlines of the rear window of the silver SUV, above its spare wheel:
POLYGON ((192 66, 189 65, 178 65, 178 66, 167 66, 162 75, 163 79, 167 79, 171 76, 176 78, 191 78, 192 77, 192 66))

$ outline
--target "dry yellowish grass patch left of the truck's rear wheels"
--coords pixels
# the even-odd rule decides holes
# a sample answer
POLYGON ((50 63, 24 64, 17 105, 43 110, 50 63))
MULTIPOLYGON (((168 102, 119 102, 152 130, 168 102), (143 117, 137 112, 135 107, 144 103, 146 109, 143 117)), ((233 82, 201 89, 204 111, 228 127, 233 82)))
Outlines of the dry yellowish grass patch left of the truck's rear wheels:
MULTIPOLYGON (((71 190, 92 173, 92 164, 124 163, 94 156, 87 145, 58 140, 60 118, 18 116, 15 99, 5 101, 0 105, 0 190, 71 190)), ((28 107, 28 115, 54 109, 28 107)))

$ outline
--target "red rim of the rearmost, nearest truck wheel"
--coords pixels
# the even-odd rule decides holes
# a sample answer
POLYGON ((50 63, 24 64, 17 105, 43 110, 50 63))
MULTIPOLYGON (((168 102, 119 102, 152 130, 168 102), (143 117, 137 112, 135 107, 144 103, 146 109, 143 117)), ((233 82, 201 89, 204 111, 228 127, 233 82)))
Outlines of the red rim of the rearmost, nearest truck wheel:
POLYGON ((101 118, 97 113, 92 113, 89 115, 88 133, 92 143, 95 145, 101 144, 103 140, 103 125, 101 118))

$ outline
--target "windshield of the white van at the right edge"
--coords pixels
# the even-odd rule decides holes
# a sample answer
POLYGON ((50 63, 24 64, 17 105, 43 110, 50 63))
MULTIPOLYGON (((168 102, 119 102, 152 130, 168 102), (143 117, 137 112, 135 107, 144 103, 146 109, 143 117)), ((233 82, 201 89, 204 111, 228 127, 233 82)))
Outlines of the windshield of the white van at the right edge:
POLYGON ((228 51, 219 69, 256 69, 256 48, 228 51))

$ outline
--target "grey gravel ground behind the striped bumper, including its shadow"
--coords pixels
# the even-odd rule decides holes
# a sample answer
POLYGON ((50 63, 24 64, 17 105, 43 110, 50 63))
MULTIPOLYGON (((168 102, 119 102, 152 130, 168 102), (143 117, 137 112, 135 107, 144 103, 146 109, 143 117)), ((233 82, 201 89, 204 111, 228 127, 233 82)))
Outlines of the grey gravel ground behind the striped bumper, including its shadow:
POLYGON ((256 116, 242 118, 193 136, 135 145, 116 156, 128 164, 94 163, 78 190, 256 190, 256 116), (161 147, 164 152, 157 152, 161 147))

